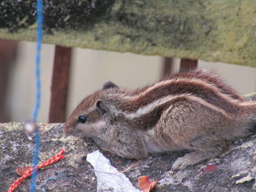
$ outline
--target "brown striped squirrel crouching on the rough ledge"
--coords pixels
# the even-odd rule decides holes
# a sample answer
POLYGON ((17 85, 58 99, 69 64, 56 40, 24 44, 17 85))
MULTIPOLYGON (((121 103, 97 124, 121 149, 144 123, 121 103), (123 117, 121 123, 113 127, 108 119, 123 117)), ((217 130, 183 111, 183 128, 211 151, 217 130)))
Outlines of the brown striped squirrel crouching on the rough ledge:
POLYGON ((137 90, 105 82, 86 97, 64 133, 91 137, 122 158, 189 150, 173 170, 223 153, 237 137, 256 132, 256 102, 246 101, 214 72, 195 69, 137 90))

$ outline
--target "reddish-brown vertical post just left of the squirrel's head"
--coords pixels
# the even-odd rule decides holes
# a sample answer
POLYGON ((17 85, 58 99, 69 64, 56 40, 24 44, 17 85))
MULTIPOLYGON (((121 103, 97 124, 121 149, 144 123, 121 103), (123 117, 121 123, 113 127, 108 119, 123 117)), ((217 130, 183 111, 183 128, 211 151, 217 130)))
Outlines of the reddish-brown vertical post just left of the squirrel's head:
POLYGON ((66 118, 71 52, 70 47, 55 47, 49 123, 63 123, 66 118))

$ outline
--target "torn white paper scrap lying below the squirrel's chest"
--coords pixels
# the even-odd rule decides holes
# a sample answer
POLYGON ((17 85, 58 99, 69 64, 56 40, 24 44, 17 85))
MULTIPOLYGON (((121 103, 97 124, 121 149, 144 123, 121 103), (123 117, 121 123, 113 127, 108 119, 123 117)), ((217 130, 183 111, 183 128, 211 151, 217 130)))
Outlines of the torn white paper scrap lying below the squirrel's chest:
POLYGON ((132 186, 124 174, 111 166, 108 158, 105 158, 99 150, 89 153, 86 160, 94 166, 97 177, 97 192, 141 192, 132 186))

